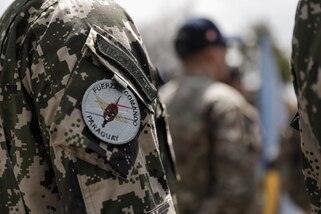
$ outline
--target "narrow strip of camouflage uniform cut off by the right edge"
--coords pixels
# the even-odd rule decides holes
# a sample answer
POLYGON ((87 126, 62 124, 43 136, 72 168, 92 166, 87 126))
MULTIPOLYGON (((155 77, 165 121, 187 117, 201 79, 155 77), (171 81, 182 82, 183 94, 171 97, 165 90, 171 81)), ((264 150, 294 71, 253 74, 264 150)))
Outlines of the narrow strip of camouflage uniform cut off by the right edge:
POLYGON ((321 4, 298 3, 292 40, 291 69, 300 114, 303 174, 312 213, 321 213, 321 4))

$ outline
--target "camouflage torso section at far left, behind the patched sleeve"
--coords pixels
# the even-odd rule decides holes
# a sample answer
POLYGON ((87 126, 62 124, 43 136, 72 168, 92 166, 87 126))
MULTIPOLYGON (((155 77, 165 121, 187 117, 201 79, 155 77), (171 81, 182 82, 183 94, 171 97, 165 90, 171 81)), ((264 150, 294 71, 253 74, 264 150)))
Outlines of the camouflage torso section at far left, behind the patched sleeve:
POLYGON ((29 3, 39 6, 39 2, 15 1, 0 21, 0 209, 3 213, 56 213, 59 199, 54 178, 48 176, 50 163, 19 75, 28 61, 20 49, 24 27, 31 21, 24 15, 35 12, 24 13, 21 8, 29 3))

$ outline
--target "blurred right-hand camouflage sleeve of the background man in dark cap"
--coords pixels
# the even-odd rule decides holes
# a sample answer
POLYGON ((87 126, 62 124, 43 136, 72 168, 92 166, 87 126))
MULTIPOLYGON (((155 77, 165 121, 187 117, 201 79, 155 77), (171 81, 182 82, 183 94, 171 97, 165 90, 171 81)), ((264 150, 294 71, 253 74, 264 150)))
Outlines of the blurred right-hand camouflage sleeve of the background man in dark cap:
MULTIPOLYGON (((239 99, 233 95, 229 98, 239 99)), ((259 213, 259 123, 246 115, 246 105, 222 97, 208 108, 205 118, 212 144, 209 147, 212 182, 202 213, 213 213, 212 210, 219 210, 217 213, 259 213), (253 136, 255 132, 256 136, 253 136)))

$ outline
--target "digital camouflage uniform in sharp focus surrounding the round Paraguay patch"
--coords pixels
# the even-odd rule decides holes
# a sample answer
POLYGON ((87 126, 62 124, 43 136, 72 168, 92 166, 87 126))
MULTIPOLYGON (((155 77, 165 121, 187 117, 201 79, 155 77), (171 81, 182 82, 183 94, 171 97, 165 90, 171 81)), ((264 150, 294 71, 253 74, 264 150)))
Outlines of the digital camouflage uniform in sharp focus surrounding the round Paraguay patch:
POLYGON ((175 213, 155 129, 153 66, 121 7, 16 0, 0 20, 0 42, 1 213, 175 213), (118 52, 108 57, 104 48, 118 52), (112 78, 140 107, 138 134, 122 145, 100 141, 81 114, 89 86, 112 78))

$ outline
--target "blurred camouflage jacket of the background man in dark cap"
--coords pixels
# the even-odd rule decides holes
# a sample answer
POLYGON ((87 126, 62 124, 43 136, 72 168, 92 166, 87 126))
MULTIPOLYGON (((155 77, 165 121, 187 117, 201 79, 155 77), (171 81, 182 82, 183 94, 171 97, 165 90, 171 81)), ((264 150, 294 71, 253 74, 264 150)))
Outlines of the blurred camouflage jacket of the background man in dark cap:
POLYGON ((160 95, 181 177, 179 212, 260 213, 256 110, 230 86, 199 75, 171 80, 160 95))

